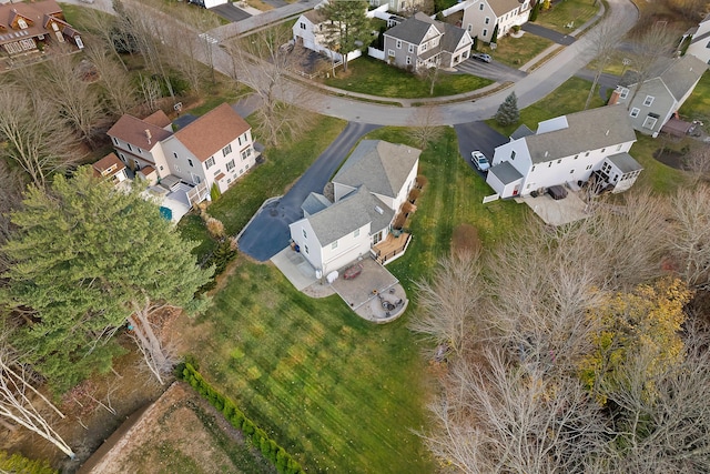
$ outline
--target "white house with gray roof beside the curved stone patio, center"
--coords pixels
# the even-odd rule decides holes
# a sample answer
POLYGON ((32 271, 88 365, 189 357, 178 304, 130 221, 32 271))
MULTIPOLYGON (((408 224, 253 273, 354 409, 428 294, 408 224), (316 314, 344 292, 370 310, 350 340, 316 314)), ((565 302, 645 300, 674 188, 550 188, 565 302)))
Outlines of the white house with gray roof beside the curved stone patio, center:
POLYGON ((290 225, 291 239, 321 275, 375 256, 379 242, 394 239, 392 225, 415 185, 420 153, 363 140, 333 178, 333 202, 317 193, 306 198, 304 218, 290 225))

